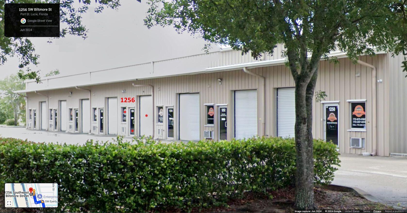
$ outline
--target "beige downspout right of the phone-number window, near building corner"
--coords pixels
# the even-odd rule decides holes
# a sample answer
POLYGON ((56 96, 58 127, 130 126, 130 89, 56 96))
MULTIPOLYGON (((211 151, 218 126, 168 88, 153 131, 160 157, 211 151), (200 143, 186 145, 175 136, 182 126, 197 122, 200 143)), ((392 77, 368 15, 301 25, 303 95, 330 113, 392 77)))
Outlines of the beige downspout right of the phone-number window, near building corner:
POLYGON ((376 105, 376 67, 361 60, 357 60, 357 63, 372 69, 372 153, 370 155, 377 155, 377 105, 376 105))

